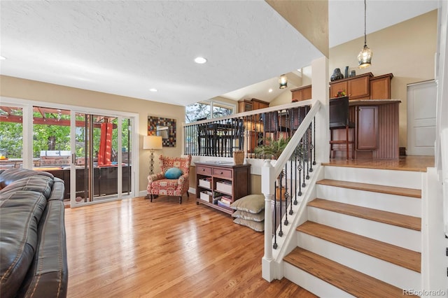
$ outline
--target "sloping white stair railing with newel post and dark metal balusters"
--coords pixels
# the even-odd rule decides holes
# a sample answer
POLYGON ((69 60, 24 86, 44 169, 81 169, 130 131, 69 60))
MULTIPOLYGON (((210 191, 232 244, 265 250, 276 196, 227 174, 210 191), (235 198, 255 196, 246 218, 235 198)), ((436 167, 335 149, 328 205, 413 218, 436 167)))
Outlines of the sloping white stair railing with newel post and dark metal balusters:
POLYGON ((277 236, 283 236, 282 226, 289 225, 288 215, 293 215, 293 204, 299 204, 297 197, 302 196, 302 189, 307 186, 309 173, 314 170, 313 166, 316 164, 315 124, 316 114, 320 108, 321 102, 314 102, 274 166, 270 159, 265 159, 262 166, 261 185, 262 193, 265 195, 265 255, 262 257, 262 277, 267 281, 272 281, 275 275, 276 260, 273 257, 273 250, 278 249, 277 236), (283 181, 286 190, 284 194, 281 191, 283 181), (279 210, 275 209, 273 212, 273 208, 277 208, 277 185, 280 187, 279 210), (282 224, 280 221, 283 215, 285 221, 282 224))

